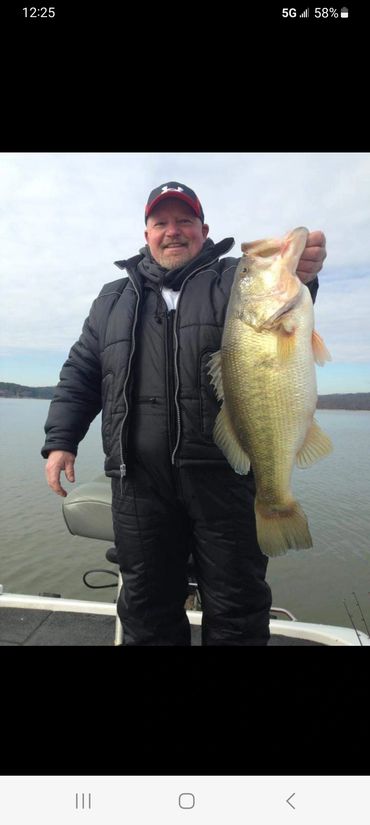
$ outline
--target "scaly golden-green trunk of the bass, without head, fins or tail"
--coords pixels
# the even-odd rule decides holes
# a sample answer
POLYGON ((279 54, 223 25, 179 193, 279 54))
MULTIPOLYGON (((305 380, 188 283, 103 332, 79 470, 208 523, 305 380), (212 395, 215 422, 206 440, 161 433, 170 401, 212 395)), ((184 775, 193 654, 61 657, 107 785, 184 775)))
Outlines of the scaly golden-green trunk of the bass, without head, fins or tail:
POLYGON ((221 355, 225 403, 235 434, 249 455, 259 497, 274 503, 290 496, 293 464, 317 401, 308 345, 297 342, 289 362, 279 364, 276 337, 235 321, 221 355))

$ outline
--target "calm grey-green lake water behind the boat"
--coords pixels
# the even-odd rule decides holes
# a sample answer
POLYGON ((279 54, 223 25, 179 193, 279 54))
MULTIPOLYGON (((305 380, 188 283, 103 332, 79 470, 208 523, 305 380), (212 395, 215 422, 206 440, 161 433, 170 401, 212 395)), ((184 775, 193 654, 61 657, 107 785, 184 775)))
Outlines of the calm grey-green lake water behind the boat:
MULTIPOLYGON (((0 583, 6 592, 113 601, 115 589, 89 590, 82 581, 91 568, 109 569, 109 543, 71 536, 62 499, 44 478, 40 448, 49 403, 0 399, 0 583)), ((370 626, 370 412, 318 410, 316 418, 334 452, 293 474, 314 546, 271 559, 267 579, 273 604, 301 621, 351 626, 345 600, 356 626, 365 630, 353 593, 370 626)), ((99 416, 80 444, 75 483, 101 475, 103 458, 99 416)), ((62 483, 73 487, 64 476, 62 483)), ((103 579, 113 582, 95 577, 96 583, 103 579)))

